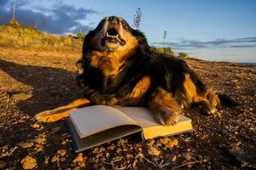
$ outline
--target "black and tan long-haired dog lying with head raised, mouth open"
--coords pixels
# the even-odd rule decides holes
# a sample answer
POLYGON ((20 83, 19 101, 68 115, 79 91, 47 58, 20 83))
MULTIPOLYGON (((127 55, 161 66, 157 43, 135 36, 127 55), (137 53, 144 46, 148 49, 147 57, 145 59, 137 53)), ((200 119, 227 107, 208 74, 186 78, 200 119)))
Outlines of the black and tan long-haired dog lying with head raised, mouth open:
POLYGON ((37 120, 60 120, 81 105, 126 105, 148 107, 158 122, 170 125, 192 104, 214 114, 226 99, 206 88, 184 60, 151 50, 142 32, 116 16, 88 33, 78 65, 82 74, 77 82, 85 99, 39 113, 37 120))

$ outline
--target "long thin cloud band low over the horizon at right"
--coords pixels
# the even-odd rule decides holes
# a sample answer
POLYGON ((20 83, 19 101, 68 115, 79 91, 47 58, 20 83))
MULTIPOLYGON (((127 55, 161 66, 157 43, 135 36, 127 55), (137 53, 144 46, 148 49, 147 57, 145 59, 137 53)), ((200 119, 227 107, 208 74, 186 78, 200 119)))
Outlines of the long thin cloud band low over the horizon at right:
MULTIPOLYGON (((152 45, 162 44, 163 42, 152 42, 152 45)), ((216 39, 208 42, 181 40, 180 42, 165 42, 164 45, 173 48, 252 48, 256 47, 256 37, 216 39)))

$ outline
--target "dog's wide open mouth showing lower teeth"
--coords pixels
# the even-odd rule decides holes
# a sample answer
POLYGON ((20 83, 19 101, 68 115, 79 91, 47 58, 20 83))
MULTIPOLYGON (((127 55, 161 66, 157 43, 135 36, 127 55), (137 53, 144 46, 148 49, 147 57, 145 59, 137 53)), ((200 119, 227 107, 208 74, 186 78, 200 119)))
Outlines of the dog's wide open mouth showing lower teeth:
POLYGON ((122 39, 117 29, 113 27, 109 28, 105 32, 105 37, 102 38, 101 45, 105 46, 106 43, 117 43, 123 46, 126 42, 122 39))

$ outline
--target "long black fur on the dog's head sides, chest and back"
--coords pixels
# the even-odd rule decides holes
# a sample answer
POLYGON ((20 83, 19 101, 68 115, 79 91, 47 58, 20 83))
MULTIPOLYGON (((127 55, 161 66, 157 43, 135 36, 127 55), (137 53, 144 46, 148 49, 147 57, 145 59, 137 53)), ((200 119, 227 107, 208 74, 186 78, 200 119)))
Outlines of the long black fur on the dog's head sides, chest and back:
POLYGON ((77 83, 85 91, 85 97, 94 93, 122 99, 130 93, 135 84, 142 77, 151 77, 151 87, 136 105, 147 106, 151 94, 157 88, 163 88, 175 94, 177 91, 184 92, 185 74, 190 74, 192 82, 196 85, 196 92, 201 94, 206 91, 206 86, 194 71, 185 63, 173 55, 160 54, 151 50, 145 35, 138 30, 132 29, 127 23, 126 29, 139 40, 139 46, 133 56, 129 57, 122 65, 123 69, 117 76, 105 77, 99 68, 90 65, 88 56, 92 47, 89 41, 102 27, 102 21, 94 31, 90 31, 85 37, 82 49, 82 59, 78 61, 83 71, 77 77, 77 83))

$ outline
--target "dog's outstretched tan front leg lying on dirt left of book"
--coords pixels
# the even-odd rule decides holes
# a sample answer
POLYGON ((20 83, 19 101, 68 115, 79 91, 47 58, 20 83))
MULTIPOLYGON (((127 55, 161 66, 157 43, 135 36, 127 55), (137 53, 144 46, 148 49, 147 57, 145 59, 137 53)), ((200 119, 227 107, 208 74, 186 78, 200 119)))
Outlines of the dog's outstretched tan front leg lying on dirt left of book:
POLYGON ((79 107, 90 105, 88 99, 77 99, 68 105, 63 105, 50 111, 37 113, 35 116, 39 122, 56 122, 68 116, 68 111, 76 110, 79 107))

